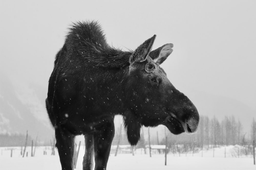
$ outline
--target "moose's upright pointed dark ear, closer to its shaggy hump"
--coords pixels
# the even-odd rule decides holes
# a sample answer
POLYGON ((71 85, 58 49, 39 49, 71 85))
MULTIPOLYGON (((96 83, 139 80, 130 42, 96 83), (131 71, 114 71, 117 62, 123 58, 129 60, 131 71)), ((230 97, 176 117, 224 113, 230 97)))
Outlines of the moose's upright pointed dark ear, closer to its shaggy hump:
POLYGON ((135 62, 145 61, 149 52, 152 49, 153 43, 155 41, 156 35, 146 40, 143 44, 141 44, 131 55, 129 62, 132 65, 135 62))

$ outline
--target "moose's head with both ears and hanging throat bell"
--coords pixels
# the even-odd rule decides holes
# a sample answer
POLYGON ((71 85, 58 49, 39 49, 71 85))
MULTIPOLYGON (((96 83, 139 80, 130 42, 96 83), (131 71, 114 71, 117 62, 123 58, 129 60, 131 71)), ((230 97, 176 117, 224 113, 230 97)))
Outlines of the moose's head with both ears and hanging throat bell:
POLYGON ((132 145, 140 138, 135 129, 140 129, 141 125, 155 127, 162 124, 173 134, 191 134, 196 132, 199 123, 194 104, 172 85, 160 67, 172 53, 173 44, 151 51, 155 37, 141 44, 129 60, 127 90, 130 93, 126 98, 134 117, 125 120, 125 127, 132 145))

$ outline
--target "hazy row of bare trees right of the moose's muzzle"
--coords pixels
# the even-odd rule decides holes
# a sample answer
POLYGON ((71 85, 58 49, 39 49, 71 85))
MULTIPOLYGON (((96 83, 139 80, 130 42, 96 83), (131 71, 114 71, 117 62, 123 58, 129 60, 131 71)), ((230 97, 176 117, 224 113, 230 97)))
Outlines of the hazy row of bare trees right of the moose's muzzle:
MULTIPOLYGON (((184 144, 196 147, 216 147, 220 145, 252 145, 253 140, 253 121, 251 136, 243 131, 243 126, 234 116, 226 116, 222 121, 219 121, 214 116, 209 119, 208 116, 201 116, 198 126, 198 131, 192 135, 173 135, 168 134, 169 145, 184 144)), ((256 123, 254 122, 256 128, 256 123)), ((256 130, 254 129, 254 132, 256 130)), ((164 141, 162 141, 164 143, 164 141)))

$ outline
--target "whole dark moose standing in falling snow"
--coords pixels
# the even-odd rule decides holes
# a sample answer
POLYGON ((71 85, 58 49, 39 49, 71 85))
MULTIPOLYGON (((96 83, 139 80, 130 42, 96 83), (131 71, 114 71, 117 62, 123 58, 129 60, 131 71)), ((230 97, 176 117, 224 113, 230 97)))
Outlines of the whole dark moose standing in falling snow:
POLYGON ((76 135, 84 135, 83 169, 106 169, 115 134, 114 117, 122 115, 129 143, 140 129, 165 125, 173 134, 197 130, 199 114, 159 66, 173 44, 155 50, 152 36, 134 51, 106 42, 97 21, 72 23, 56 55, 46 99, 55 129, 62 170, 74 169, 76 135))

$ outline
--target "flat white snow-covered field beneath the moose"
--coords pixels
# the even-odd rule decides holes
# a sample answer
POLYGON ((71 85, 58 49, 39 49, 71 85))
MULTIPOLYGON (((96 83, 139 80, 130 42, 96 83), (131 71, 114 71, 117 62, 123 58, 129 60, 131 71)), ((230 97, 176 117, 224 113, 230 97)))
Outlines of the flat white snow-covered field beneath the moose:
MULTIPOLYGON (((203 151, 199 153, 187 153, 186 154, 167 154, 167 166, 164 165, 164 154, 156 154, 154 152, 150 158, 149 154, 144 154, 144 150, 137 149, 135 155, 132 154, 118 154, 114 156, 112 153, 109 157, 107 169, 119 170, 119 169, 256 169, 256 165, 253 165, 252 155, 240 156, 240 158, 234 157, 234 147, 226 147, 226 158, 224 158, 225 148, 215 148, 215 157, 213 158, 213 150, 203 151), (142 154, 141 154, 142 153, 142 154)), ((37 169, 37 170, 56 170, 61 169, 59 162, 58 152, 56 155, 51 155, 50 147, 37 147, 35 156, 31 157, 31 148, 28 147, 28 157, 22 158, 20 155, 20 147, 2 147, 0 148, 0 169, 12 170, 12 169, 37 169), (13 149, 12 158, 10 157, 11 150, 13 149), (44 155, 44 151, 47 151, 47 155, 44 155)), ((82 170, 84 148, 81 146, 78 156, 78 162, 76 169, 82 170)))

